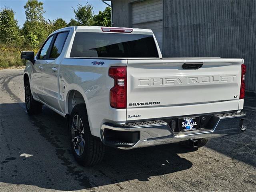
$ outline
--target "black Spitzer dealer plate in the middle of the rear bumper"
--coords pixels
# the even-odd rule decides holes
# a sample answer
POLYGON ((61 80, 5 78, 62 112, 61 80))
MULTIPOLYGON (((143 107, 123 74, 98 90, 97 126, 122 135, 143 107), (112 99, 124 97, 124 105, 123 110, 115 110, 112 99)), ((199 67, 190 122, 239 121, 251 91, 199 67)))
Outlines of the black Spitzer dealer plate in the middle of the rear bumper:
POLYGON ((199 130, 199 116, 178 118, 178 128, 180 132, 199 130))

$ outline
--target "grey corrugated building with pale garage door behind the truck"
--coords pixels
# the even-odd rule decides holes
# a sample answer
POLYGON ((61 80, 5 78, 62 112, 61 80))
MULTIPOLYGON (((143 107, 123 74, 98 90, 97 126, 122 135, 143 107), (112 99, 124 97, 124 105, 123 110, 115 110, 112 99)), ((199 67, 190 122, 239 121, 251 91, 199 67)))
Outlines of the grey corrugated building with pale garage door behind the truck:
POLYGON ((112 0, 112 25, 151 29, 164 57, 244 58, 256 92, 256 0, 112 0))

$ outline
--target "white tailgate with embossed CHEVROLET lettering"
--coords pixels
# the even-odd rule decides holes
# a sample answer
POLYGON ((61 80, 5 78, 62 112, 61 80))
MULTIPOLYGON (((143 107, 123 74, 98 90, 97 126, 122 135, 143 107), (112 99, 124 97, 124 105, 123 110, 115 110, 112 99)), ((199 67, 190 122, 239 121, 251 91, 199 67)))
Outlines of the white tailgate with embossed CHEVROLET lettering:
POLYGON ((242 59, 163 58, 127 62, 127 120, 238 110, 242 59), (203 63, 184 69, 184 63, 203 63))

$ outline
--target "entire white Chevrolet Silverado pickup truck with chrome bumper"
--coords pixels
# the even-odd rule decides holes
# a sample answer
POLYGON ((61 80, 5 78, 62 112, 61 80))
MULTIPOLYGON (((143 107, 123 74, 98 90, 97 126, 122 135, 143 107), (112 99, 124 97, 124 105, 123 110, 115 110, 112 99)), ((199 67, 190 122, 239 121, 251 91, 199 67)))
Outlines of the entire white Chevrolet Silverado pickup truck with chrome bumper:
POLYGON ((28 114, 45 105, 66 117, 84 166, 105 145, 197 148, 246 130, 242 58, 162 58, 151 30, 97 26, 57 30, 21 58, 28 114))

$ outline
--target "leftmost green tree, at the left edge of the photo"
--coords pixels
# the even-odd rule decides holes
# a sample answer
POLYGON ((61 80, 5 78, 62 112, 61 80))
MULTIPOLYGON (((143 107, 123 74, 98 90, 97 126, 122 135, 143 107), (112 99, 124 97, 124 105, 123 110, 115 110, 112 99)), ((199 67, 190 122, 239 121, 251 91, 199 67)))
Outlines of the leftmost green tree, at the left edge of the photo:
POLYGON ((0 40, 6 44, 20 44, 22 37, 14 11, 4 8, 0 11, 0 40))

